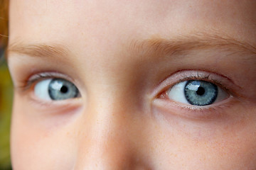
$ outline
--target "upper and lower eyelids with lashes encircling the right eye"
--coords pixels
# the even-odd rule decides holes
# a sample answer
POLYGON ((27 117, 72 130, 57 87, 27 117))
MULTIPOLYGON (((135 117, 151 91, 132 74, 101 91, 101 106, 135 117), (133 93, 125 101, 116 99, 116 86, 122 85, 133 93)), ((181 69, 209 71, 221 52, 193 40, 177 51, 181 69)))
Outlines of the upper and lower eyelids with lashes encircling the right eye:
POLYGON ((233 100, 233 97, 235 96, 235 87, 236 86, 233 84, 232 80, 220 74, 201 70, 181 70, 171 74, 171 76, 164 79, 164 81, 159 84, 153 92, 153 97, 156 98, 153 105, 158 106, 156 108, 160 108, 161 110, 164 109, 164 113, 171 112, 181 116, 183 115, 187 118, 216 118, 218 115, 223 115, 223 111, 233 105, 233 102, 230 102, 230 100, 233 100), (208 81, 220 86, 220 88, 228 94, 228 98, 208 106, 193 106, 169 99, 167 96, 167 91, 169 91, 169 89, 182 81, 189 80, 208 81))

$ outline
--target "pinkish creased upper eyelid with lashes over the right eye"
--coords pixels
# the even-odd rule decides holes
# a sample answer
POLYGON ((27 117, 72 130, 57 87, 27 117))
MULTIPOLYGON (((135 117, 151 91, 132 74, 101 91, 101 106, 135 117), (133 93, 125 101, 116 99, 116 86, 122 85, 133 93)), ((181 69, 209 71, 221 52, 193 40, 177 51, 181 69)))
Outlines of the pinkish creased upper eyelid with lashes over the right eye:
POLYGON ((234 89, 241 89, 240 86, 234 84, 233 81, 228 77, 224 77, 213 72, 201 70, 181 70, 171 74, 169 77, 164 79, 164 81, 161 81, 161 83, 156 86, 156 89, 154 89, 154 91, 151 93, 152 97, 161 95, 164 91, 167 91, 181 81, 188 81, 191 79, 210 81, 211 83, 220 86, 232 96, 236 96, 234 89))

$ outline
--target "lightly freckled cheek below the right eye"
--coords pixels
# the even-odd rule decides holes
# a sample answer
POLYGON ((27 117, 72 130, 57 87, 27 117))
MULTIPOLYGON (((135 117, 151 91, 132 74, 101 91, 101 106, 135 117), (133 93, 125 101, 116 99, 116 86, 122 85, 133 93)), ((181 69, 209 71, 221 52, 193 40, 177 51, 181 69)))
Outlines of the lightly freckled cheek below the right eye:
MULTIPOLYGON (((214 123, 158 118, 149 143, 152 160, 161 169, 255 169, 255 107, 230 110, 239 120, 214 123), (181 168, 182 167, 182 168, 181 168)), ((234 118, 235 119, 235 118, 234 118)))

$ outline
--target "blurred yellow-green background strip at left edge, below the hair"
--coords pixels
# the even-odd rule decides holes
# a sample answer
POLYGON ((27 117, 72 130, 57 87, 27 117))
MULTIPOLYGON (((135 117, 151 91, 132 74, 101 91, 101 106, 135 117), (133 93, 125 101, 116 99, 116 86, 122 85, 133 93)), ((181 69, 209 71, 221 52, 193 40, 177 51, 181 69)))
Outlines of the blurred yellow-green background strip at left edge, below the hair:
POLYGON ((0 170, 11 169, 10 160, 10 122, 12 84, 6 62, 0 61, 0 170))

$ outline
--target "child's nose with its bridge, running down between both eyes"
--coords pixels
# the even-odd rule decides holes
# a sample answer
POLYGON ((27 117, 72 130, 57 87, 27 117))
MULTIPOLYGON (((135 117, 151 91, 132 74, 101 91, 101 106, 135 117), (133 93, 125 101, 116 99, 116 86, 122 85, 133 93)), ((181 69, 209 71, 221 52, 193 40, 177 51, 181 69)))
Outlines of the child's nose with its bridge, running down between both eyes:
MULTIPOLYGON (((118 62, 119 63, 119 62, 118 62)), ((117 64, 119 65, 119 64, 117 64)), ((126 69, 99 69, 88 75, 87 103, 80 119, 76 169, 143 169, 142 96, 137 78, 126 69), (140 145, 142 146, 142 145, 140 145)), ((127 68, 127 67, 125 67, 127 68)), ((127 68, 131 69, 131 68, 127 68)))

